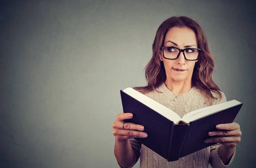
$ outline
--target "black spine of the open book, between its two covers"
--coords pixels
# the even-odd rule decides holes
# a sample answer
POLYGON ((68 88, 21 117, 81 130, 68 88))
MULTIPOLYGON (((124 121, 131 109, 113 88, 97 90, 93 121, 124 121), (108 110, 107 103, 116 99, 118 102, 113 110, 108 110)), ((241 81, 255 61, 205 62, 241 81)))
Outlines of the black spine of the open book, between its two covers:
POLYGON ((173 125, 170 144, 167 151, 167 161, 175 161, 180 158, 180 154, 183 148, 183 144, 186 139, 186 134, 189 129, 189 124, 173 125))

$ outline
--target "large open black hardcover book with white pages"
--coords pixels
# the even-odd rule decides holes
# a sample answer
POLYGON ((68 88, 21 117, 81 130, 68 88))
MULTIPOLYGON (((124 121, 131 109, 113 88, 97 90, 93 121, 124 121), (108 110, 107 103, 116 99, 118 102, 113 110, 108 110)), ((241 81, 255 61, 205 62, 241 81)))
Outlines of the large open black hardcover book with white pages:
POLYGON ((131 87, 120 90, 124 113, 133 113, 133 122, 143 125, 146 138, 135 138, 160 156, 170 161, 207 148, 213 143, 204 140, 218 124, 231 123, 236 118, 243 103, 232 100, 204 107, 187 113, 182 118, 131 87))

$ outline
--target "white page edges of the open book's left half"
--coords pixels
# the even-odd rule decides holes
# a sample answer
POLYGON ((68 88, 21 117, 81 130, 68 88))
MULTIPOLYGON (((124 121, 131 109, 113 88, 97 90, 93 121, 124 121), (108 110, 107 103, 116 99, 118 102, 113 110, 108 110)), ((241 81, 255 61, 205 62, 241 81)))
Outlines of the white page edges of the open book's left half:
POLYGON ((149 98, 148 96, 143 95, 142 93, 134 90, 131 87, 126 88, 123 92, 127 93, 131 97, 137 99, 138 101, 142 102, 146 106, 150 107, 151 109, 155 110, 157 113, 160 113, 162 116, 166 117, 167 119, 173 121, 174 123, 180 121, 180 116, 172 111, 171 109, 165 107, 164 105, 154 101, 153 99, 149 98))

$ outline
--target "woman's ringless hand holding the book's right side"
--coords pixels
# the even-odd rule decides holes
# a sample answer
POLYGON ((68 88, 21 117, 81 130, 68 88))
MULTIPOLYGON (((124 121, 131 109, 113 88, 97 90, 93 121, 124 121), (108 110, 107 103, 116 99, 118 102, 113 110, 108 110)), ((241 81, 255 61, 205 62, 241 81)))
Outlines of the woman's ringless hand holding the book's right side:
POLYGON ((210 131, 208 133, 209 136, 215 137, 209 138, 210 141, 208 142, 206 142, 206 139, 204 142, 217 142, 225 145, 227 148, 235 148, 236 145, 241 141, 242 132, 240 130, 240 125, 236 122, 216 125, 216 128, 218 129, 218 131, 210 131))

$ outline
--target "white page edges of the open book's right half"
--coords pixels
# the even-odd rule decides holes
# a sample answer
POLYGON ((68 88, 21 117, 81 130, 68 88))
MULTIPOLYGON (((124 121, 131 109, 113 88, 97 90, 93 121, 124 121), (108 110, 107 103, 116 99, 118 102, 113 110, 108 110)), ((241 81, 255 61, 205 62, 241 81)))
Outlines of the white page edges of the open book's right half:
POLYGON ((240 103, 241 102, 239 102, 239 101, 231 100, 231 101, 227 101, 227 102, 224 102, 224 103, 221 103, 221 104, 215 104, 215 105, 212 105, 212 106, 209 106, 209 107, 204 107, 204 108, 201 108, 201 109, 198 109, 198 110, 194 110, 190 113, 187 113, 186 115, 184 115, 182 117, 182 120, 185 121, 185 122, 192 122, 194 120, 201 119, 205 116, 209 116, 209 115, 211 115, 213 113, 216 113, 220 110, 224 110, 224 109, 233 107, 233 106, 238 105, 240 103))

